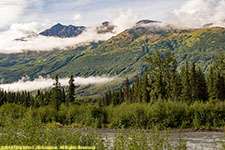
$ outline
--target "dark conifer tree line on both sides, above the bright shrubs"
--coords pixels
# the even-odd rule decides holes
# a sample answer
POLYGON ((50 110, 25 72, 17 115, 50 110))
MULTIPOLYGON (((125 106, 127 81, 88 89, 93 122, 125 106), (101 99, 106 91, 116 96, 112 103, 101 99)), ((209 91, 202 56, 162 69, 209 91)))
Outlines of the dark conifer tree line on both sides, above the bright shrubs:
MULTIPOLYGON (((106 92, 98 99, 99 105, 154 103, 157 100, 169 99, 189 104, 196 100, 204 102, 209 99, 225 100, 225 58, 222 52, 207 73, 195 63, 190 65, 188 62, 178 70, 178 63, 169 51, 163 54, 156 51, 145 57, 145 61, 148 64, 148 71, 144 71, 143 75, 136 75, 132 84, 127 78, 123 88, 106 92)), ((73 75, 68 84, 65 91, 56 75, 51 90, 38 90, 37 94, 0 90, 0 105, 4 103, 16 103, 26 107, 51 105, 58 111, 62 103, 69 106, 77 102, 73 75)))

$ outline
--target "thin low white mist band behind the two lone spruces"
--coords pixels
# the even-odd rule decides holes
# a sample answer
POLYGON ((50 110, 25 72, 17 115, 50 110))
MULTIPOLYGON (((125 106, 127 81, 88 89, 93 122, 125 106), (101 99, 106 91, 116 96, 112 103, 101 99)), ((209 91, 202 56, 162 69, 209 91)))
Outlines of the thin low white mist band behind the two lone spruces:
MULTIPOLYGON (((10 83, 10 84, 0 84, 0 88, 6 91, 35 91, 38 89, 47 89, 53 86, 55 82, 54 79, 51 78, 43 78, 39 77, 33 81, 29 81, 28 77, 22 78, 18 82, 10 83)), ((75 77, 75 85, 94 85, 94 84, 102 84, 111 82, 115 79, 115 77, 75 77)), ((68 86, 69 78, 59 79, 61 86, 68 86)))

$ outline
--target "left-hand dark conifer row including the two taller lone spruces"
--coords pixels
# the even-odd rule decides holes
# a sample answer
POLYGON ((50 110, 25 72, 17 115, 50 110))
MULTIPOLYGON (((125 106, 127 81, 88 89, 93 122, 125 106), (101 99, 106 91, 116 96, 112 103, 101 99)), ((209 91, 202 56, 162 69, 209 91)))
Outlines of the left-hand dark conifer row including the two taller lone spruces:
POLYGON ((55 77, 55 82, 51 90, 38 90, 37 94, 32 94, 27 91, 22 92, 6 92, 0 89, 0 106, 5 103, 15 103, 26 107, 40 107, 51 105, 55 110, 59 110, 62 103, 69 106, 75 101, 75 84, 74 77, 71 75, 68 82, 67 91, 61 86, 58 75, 55 77))

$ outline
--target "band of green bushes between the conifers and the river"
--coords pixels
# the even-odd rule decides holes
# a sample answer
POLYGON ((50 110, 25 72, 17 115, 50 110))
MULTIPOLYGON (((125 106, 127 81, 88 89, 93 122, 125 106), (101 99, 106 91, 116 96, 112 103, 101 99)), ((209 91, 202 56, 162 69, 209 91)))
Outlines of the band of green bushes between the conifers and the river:
POLYGON ((57 112, 51 105, 26 108, 18 104, 0 107, 0 126, 27 119, 27 114, 42 123, 57 121, 62 125, 94 128, 216 128, 225 125, 225 102, 158 100, 155 103, 133 103, 118 106, 62 104, 57 112))

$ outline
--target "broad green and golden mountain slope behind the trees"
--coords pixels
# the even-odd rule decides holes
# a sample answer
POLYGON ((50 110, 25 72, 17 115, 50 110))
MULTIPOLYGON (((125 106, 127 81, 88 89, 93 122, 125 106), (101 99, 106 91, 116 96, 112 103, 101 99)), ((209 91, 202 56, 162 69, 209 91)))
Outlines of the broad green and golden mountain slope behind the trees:
MULTIPOLYGON (((225 28, 181 29, 162 22, 140 22, 104 42, 67 50, 0 54, 0 79, 9 83, 26 75, 34 79, 71 73, 132 77, 147 68, 143 58, 155 50, 171 51, 178 68, 188 61, 207 71, 219 51, 225 52, 225 28)), ((92 90, 97 93, 96 87, 92 90)))

